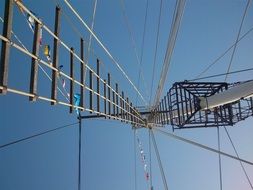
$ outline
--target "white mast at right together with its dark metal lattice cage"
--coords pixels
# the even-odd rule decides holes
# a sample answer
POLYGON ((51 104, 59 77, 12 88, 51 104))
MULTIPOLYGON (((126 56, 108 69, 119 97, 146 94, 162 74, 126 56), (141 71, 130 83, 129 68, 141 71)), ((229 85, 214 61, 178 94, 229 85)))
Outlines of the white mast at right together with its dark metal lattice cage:
POLYGON ((173 129, 232 126, 253 116, 252 97, 252 80, 176 82, 147 118, 173 129))

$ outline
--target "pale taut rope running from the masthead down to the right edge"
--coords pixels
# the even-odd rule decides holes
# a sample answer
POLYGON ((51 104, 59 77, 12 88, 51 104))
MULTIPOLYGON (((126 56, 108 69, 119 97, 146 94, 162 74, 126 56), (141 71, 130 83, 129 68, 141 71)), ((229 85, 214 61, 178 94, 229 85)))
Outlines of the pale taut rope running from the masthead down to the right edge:
POLYGON ((182 141, 182 142, 185 142, 185 143, 188 143, 188 144, 191 144, 191 145, 194 145, 194 146, 197 146, 199 148, 202 148, 202 149, 205 149, 205 150, 208 150, 208 151, 211 151, 211 152, 214 152, 214 153, 217 153, 217 154, 221 154, 223 156, 226 156, 226 157, 229 157, 229 158, 232 158, 234 160, 239 160, 241 162, 244 162, 246 164, 249 164, 249 165, 252 165, 253 166, 253 162, 250 162, 250 161, 247 161, 247 160, 244 160, 244 159, 241 159, 241 158, 237 158, 236 156, 233 156, 233 155, 230 155, 228 153, 225 153, 225 152, 222 152, 222 151, 218 151, 214 148, 211 148, 211 147, 208 147, 208 146, 205 146, 203 144, 200 144, 200 143, 197 143, 197 142, 194 142, 192 140, 188 140, 186 138, 183 138, 183 137, 180 137, 180 136, 177 136, 177 135, 174 135, 170 132, 166 132, 166 131, 163 131, 163 130, 160 130, 160 129, 157 129, 157 128, 153 128, 154 130, 166 135, 166 136, 169 136, 171 138, 174 138, 176 140, 179 140, 179 141, 182 141))

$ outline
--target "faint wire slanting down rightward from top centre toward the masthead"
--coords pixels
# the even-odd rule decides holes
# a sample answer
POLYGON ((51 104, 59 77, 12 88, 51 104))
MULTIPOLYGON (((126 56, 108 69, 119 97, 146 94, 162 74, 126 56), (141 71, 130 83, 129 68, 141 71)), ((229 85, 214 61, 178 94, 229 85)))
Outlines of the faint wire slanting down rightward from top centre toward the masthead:
POLYGON ((134 54, 135 54, 137 63, 139 64, 139 68, 140 68, 139 70, 140 70, 140 75, 141 75, 141 79, 142 79, 142 82, 143 82, 143 86, 146 90, 146 95, 148 97, 147 82, 144 78, 144 75, 143 75, 143 72, 142 72, 142 69, 141 69, 141 61, 140 61, 140 58, 139 58, 139 55, 138 55, 138 52, 137 52, 137 46, 136 46, 136 41, 134 39, 133 30, 132 30, 130 21, 127 17, 124 0, 120 0, 120 5, 121 5, 120 7, 121 7, 121 10, 122 10, 122 13, 123 13, 124 21, 125 21, 125 24, 126 24, 126 28, 127 28, 127 31, 129 33, 129 36, 130 36, 130 39, 131 39, 132 48, 134 50, 134 54))

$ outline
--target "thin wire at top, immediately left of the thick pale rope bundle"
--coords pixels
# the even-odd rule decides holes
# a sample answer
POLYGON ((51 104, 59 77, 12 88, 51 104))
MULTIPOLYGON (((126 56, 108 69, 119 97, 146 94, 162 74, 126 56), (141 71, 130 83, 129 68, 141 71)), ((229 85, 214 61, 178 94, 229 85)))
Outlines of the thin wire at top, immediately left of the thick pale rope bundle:
POLYGON ((157 24, 157 33, 156 33, 155 54, 154 54, 154 61, 153 61, 153 68, 152 68, 152 80, 151 80, 151 89, 150 89, 150 98, 149 98, 149 105, 150 106, 151 106, 153 87, 154 87, 155 65, 156 65, 156 59, 157 59, 157 50, 158 50, 158 42, 159 42, 159 34, 160 34, 162 6, 163 6, 163 0, 160 0, 160 9, 159 9, 158 24, 157 24))

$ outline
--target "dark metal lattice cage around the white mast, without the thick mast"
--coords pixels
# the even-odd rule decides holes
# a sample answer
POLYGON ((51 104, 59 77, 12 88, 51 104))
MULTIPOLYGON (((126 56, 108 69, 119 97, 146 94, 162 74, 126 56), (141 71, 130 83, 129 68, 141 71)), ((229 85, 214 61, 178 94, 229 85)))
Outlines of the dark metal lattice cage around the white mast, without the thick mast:
POLYGON ((177 82, 174 83, 159 106, 149 116, 149 122, 172 125, 173 129, 232 126, 253 116, 251 98, 202 109, 200 100, 228 90, 236 84, 224 82, 177 82))

